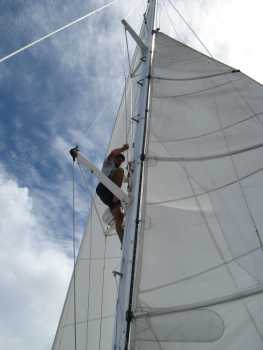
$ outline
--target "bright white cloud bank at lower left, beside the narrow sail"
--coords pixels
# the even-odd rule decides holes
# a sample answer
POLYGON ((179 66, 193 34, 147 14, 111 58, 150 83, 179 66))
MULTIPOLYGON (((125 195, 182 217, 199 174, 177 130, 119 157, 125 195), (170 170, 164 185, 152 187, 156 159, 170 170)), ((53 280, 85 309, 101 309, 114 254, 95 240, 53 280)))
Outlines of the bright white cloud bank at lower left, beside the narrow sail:
POLYGON ((51 243, 27 188, 0 168, 0 348, 49 349, 72 261, 51 243))

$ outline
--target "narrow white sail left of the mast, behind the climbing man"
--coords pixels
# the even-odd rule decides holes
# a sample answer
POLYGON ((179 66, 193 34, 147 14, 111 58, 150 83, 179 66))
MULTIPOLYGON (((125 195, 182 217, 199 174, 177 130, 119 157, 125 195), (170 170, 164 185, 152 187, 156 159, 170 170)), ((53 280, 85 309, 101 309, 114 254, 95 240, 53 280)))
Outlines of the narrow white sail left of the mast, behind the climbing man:
MULTIPOLYGON (((145 24, 141 37, 144 33, 145 24)), ((140 49, 136 48, 130 67, 131 73, 136 70, 135 76, 125 83, 108 147, 112 150, 130 144, 124 166, 126 175, 127 163, 133 159, 134 129, 139 121, 136 106, 141 88, 137 83, 141 57, 140 49)), ((92 189, 86 171, 81 167, 80 182, 83 190, 89 193, 92 189)), ((123 188, 127 191, 127 184, 123 188)), ((112 346, 120 279, 118 274, 114 277, 114 271, 120 272, 122 251, 114 225, 109 228, 103 221, 106 208, 95 195, 75 266, 75 292, 73 275, 52 350, 108 350, 112 346)))

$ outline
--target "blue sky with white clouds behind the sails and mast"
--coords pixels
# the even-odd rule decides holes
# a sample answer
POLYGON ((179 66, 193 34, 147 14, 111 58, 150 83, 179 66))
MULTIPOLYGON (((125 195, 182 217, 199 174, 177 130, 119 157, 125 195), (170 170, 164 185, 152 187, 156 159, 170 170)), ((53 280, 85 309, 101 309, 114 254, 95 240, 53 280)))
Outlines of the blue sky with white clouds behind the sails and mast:
MULTIPOLYGON (((0 58, 106 3, 1 1, 0 58)), ((213 57, 263 83, 261 0, 159 1, 161 30, 207 53, 171 4, 213 57)), ((51 348, 73 267, 68 150, 101 165, 127 75, 120 20, 138 32, 144 6, 116 1, 0 63, 1 349, 51 348)), ((90 194, 76 197, 79 243, 90 194)))

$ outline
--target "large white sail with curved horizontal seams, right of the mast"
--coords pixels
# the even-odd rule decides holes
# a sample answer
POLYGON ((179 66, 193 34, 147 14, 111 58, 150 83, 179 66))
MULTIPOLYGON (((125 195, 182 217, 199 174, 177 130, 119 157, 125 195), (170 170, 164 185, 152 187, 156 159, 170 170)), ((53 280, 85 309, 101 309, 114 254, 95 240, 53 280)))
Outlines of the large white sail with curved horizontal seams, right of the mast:
POLYGON ((131 349, 262 349, 263 87, 158 32, 150 91, 131 349))

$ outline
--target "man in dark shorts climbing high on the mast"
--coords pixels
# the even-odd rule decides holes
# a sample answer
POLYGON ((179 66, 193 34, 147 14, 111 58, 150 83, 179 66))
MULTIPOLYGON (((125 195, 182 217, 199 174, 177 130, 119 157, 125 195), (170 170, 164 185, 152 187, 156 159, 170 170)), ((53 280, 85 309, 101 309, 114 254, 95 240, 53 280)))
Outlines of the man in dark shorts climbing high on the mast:
MULTIPOLYGON (((102 172, 108 176, 112 182, 117 186, 121 187, 124 179, 124 170, 121 168, 121 164, 125 161, 125 156, 122 152, 129 149, 129 145, 125 144, 121 148, 116 148, 108 155, 108 157, 103 162, 102 172)), ((119 239, 122 243, 123 240, 123 213, 121 210, 121 201, 114 196, 101 182, 96 188, 96 193, 106 204, 112 213, 112 216, 115 221, 115 227, 119 239)))

